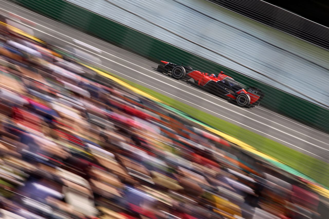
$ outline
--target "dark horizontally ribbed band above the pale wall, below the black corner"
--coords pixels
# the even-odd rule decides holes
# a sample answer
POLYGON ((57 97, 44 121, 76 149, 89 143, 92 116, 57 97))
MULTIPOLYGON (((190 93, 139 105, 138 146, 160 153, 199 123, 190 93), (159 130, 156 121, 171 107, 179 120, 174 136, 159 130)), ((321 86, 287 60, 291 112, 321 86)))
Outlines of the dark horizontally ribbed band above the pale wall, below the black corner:
POLYGON ((329 49, 329 28, 262 0, 207 0, 308 42, 329 49))

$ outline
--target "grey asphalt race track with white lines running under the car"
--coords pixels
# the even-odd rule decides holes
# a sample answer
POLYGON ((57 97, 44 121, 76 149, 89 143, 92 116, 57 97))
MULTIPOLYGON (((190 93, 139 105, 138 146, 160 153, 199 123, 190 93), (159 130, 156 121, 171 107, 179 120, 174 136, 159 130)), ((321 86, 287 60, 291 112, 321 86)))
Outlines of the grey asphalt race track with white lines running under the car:
POLYGON ((157 72, 158 63, 0 0, 1 14, 16 17, 33 34, 63 49, 74 48, 90 63, 194 108, 266 136, 292 149, 329 160, 329 135, 262 107, 243 109, 192 85, 157 72), (16 15, 15 15, 16 14, 16 15), (19 15, 19 16, 17 16, 19 15), (78 42, 79 41, 79 42, 78 42))

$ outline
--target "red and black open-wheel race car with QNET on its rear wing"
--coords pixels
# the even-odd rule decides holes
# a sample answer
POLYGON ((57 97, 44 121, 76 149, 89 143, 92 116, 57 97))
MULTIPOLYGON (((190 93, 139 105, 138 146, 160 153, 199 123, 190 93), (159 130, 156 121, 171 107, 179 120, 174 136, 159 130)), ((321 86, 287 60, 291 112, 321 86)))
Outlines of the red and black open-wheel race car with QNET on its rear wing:
POLYGON ((194 84, 201 86, 208 92, 217 96, 226 97, 229 101, 236 103, 240 107, 252 108, 258 106, 264 94, 256 87, 246 87, 230 76, 220 72, 218 76, 194 70, 190 66, 173 64, 161 61, 158 70, 170 73, 175 79, 194 81, 194 84))

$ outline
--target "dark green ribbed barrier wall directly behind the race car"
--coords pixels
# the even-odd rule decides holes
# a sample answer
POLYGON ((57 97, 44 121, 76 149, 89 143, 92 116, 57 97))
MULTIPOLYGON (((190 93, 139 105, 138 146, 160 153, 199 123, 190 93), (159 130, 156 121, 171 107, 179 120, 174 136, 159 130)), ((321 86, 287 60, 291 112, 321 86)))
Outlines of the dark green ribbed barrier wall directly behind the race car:
POLYGON ((262 89, 266 95, 262 101, 262 106, 329 133, 328 109, 258 82, 64 0, 12 1, 155 61, 166 60, 184 63, 206 72, 215 73, 223 70, 242 84, 253 85, 262 89))

